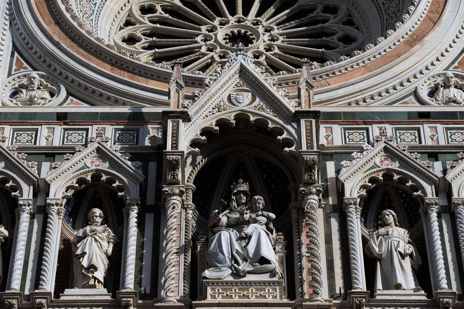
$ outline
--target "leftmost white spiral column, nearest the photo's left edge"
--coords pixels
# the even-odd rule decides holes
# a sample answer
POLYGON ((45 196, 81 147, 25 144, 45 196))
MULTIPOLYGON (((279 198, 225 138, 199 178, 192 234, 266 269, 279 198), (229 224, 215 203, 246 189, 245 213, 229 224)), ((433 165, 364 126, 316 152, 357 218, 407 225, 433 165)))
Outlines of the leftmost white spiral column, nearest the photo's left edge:
POLYGON ((24 254, 26 252, 29 217, 32 213, 32 198, 20 198, 16 208, 16 243, 13 251, 13 267, 9 290, 19 291, 23 272, 24 254))

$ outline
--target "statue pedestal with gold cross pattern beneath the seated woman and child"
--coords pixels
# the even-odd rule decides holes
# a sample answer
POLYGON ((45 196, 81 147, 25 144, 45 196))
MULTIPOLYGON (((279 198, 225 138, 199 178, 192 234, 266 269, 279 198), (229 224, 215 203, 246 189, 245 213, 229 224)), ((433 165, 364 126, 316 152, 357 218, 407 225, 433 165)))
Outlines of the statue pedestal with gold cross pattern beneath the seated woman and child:
POLYGON ((229 275, 224 279, 203 279, 206 300, 283 300, 284 280, 274 273, 229 275))

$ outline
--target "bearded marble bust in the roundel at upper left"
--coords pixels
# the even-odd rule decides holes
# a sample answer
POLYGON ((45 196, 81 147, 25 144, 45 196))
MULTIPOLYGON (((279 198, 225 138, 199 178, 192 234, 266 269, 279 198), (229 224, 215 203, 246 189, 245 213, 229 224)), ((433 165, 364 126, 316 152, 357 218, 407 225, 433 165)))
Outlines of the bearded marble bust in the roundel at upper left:
POLYGON ((39 76, 31 73, 27 76, 27 85, 21 85, 18 93, 13 97, 20 105, 38 105, 45 100, 50 100, 50 92, 40 86, 39 76))

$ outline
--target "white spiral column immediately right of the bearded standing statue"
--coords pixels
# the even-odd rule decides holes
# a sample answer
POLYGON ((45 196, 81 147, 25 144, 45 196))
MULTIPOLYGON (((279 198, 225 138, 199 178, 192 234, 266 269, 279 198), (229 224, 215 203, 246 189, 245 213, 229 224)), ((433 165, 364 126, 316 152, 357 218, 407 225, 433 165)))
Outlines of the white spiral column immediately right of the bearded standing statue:
POLYGON ((124 284, 123 290, 134 290, 135 278, 135 249, 137 246, 137 216, 140 207, 140 199, 129 198, 124 207, 124 225, 126 229, 126 252, 124 258, 124 284))

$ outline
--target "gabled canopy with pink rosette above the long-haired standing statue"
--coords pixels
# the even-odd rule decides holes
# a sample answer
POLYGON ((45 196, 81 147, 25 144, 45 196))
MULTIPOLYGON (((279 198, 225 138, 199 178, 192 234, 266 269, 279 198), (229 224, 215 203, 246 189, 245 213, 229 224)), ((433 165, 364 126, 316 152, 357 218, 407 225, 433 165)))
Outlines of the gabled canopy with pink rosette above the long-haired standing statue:
POLYGON ((376 145, 340 175, 339 190, 344 190, 345 197, 364 196, 372 187, 371 181, 381 182, 386 174, 404 183, 418 196, 436 196, 440 177, 388 141, 376 145))

